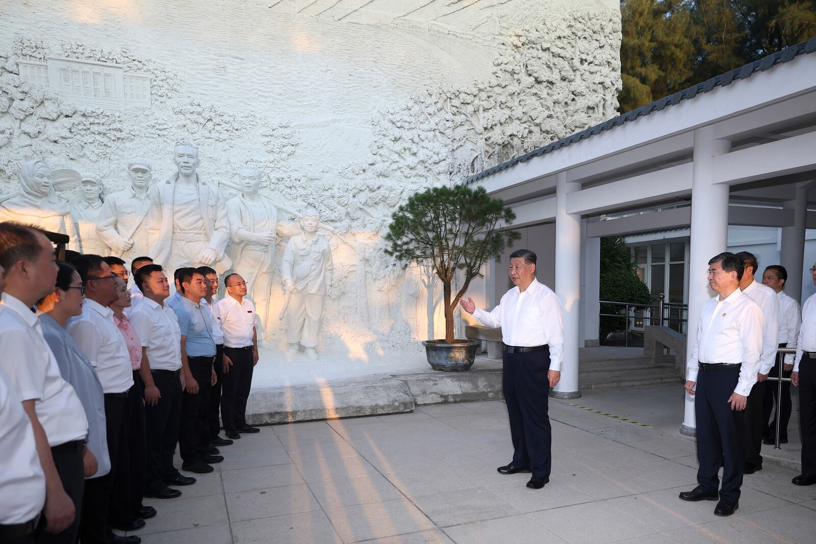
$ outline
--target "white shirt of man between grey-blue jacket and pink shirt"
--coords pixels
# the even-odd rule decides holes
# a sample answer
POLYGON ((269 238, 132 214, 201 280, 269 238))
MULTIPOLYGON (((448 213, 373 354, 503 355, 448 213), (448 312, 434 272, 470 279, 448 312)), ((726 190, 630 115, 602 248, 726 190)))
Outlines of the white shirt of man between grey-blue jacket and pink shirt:
POLYGON ((125 338, 113 324, 113 310, 85 299, 82 314, 69 319, 65 329, 94 365, 105 393, 123 393, 131 388, 131 356, 125 338))

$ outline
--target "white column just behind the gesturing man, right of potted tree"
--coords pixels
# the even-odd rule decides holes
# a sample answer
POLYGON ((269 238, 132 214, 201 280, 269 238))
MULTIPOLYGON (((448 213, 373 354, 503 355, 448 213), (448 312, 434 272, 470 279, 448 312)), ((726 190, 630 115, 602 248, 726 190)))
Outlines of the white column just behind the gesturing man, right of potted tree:
POLYGON ((581 215, 566 213, 566 196, 581 184, 567 183, 566 173, 556 175, 556 293, 564 322, 564 363, 561 382, 550 391, 557 399, 577 399, 578 343, 581 292, 581 215))

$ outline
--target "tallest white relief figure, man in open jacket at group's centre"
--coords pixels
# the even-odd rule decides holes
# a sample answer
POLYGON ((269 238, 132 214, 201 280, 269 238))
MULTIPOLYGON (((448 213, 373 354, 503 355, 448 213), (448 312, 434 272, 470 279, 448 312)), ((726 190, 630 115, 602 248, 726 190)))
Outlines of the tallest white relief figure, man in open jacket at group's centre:
POLYGON ((150 192, 149 255, 172 272, 211 266, 222 274, 232 267, 225 254, 229 220, 224 195, 197 174, 198 148, 181 140, 173 147, 176 173, 150 192))

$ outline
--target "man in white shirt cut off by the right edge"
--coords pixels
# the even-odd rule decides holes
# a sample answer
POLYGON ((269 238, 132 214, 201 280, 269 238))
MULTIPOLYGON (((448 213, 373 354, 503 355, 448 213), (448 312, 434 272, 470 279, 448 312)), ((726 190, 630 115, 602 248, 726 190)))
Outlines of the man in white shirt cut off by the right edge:
MULTIPOLYGON (((810 268, 816 285, 816 264, 810 268)), ((802 432, 802 473, 796 485, 816 484, 816 294, 802 305, 802 325, 796 341, 791 383, 799 387, 799 425, 802 432)))

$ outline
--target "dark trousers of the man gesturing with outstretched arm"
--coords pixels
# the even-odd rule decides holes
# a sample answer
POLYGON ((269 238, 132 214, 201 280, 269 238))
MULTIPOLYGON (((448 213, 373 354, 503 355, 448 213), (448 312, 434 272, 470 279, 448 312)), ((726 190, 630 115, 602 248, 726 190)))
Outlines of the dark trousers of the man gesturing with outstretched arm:
POLYGON ((548 478, 552 429, 548 414, 550 350, 503 355, 503 391, 508 405, 512 464, 548 478))

